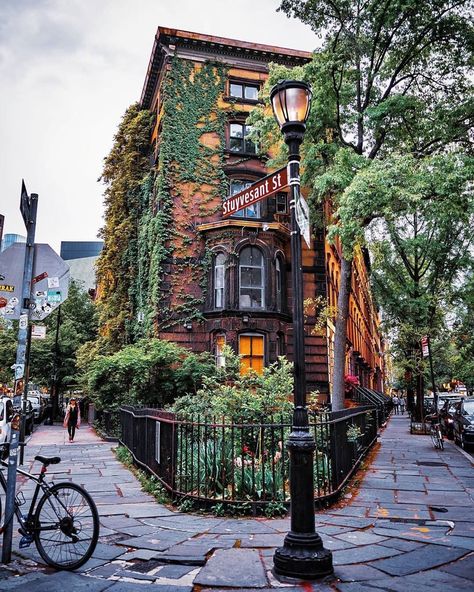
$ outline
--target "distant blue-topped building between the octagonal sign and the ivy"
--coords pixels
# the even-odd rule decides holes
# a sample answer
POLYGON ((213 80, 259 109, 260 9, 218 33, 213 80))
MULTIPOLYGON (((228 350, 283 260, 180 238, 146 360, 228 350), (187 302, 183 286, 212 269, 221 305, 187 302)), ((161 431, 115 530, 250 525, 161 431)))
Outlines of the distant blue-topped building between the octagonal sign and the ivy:
POLYGON ((102 241, 61 242, 61 258, 68 262, 71 279, 93 297, 97 287, 95 265, 103 246, 102 241))

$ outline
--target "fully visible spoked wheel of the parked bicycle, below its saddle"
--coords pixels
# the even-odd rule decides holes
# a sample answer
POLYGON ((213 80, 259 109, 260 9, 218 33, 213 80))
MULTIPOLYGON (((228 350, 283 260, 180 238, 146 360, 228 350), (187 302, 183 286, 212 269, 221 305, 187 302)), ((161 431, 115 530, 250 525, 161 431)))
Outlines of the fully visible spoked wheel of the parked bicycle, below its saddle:
POLYGON ((40 499, 34 518, 36 548, 56 569, 84 565, 99 538, 99 514, 91 496, 75 483, 57 483, 40 499))

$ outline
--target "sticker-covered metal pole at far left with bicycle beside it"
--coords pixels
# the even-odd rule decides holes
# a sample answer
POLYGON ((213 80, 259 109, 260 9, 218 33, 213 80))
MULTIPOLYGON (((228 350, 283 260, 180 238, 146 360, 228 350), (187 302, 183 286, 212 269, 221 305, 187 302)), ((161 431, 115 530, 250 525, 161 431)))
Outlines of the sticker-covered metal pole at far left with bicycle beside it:
MULTIPOLYGON (((26 349, 28 340, 28 325, 30 318, 30 294, 31 294, 31 280, 33 276, 34 250, 35 250, 35 231, 36 231, 36 213, 38 209, 38 195, 32 193, 28 196, 26 193, 25 184, 22 184, 20 210, 25 222, 27 237, 25 249, 25 261, 23 267, 23 282, 22 282, 22 301, 21 314, 18 323, 18 344, 16 350, 16 364, 15 364, 15 388, 18 381, 25 377, 26 365, 26 349)), ((28 385, 24 380, 23 399, 22 399, 22 418, 21 418, 21 432, 25 433, 25 417, 27 404, 28 385)), ((15 390, 16 392, 16 390, 15 390)), ((2 562, 10 563, 12 551, 12 537, 13 537, 13 513, 15 508, 16 495, 16 469, 18 464, 18 446, 20 430, 17 422, 11 424, 11 440, 10 440, 10 454, 8 458, 7 470, 7 490, 5 492, 5 516, 8 523, 5 524, 3 534, 2 546, 2 562)), ((23 448, 23 447, 22 447, 23 448)))

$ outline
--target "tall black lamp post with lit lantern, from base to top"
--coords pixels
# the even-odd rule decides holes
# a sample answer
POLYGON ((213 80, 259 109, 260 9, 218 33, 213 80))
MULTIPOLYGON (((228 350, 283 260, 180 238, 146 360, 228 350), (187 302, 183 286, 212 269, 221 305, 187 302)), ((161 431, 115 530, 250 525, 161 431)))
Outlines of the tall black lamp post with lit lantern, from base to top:
POLYGON ((315 531, 313 457, 316 449, 309 431, 304 362, 303 272, 301 236, 296 219, 300 199, 299 161, 308 119, 311 89, 305 82, 285 80, 270 93, 273 113, 289 149, 291 188, 291 278, 293 287, 293 426, 286 443, 290 453, 291 525, 283 547, 275 551, 274 573, 298 579, 316 579, 333 572, 332 553, 315 531))

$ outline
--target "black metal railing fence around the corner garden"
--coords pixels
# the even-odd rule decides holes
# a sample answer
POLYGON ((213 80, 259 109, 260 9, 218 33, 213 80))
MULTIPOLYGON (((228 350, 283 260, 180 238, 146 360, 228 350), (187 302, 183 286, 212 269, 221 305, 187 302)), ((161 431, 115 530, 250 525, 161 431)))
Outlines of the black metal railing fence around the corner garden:
MULTIPOLYGON (((174 498, 197 505, 289 502, 291 423, 229 418, 180 420, 159 409, 121 409, 121 443, 136 463, 155 475, 174 498)), ((358 407, 310 418, 316 442, 315 503, 336 496, 377 437, 377 409, 358 407)))

